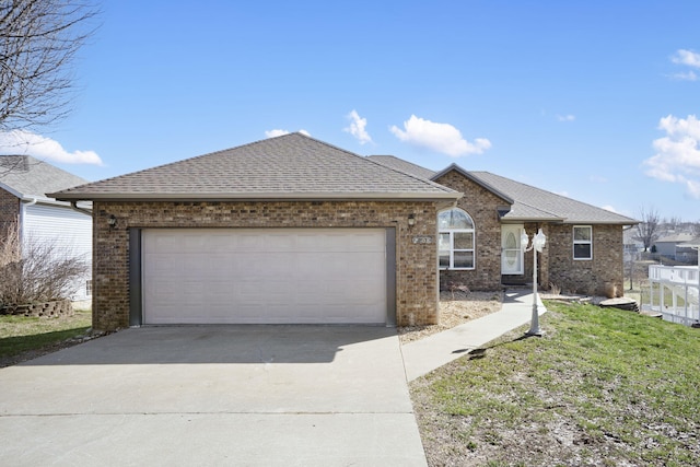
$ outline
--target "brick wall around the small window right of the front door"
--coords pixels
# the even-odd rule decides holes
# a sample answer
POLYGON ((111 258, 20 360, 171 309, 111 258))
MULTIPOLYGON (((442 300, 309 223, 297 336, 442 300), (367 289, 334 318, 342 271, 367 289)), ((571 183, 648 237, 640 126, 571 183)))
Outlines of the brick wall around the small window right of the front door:
POLYGON ((622 227, 593 225, 593 259, 573 259, 573 226, 549 225, 549 282, 563 292, 605 295, 606 283, 622 290, 622 227))

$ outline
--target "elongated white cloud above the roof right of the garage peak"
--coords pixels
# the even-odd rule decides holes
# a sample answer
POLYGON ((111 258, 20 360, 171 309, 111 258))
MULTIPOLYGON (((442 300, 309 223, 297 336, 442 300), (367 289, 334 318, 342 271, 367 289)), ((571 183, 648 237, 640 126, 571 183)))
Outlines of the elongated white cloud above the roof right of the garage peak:
POLYGON ((491 148, 491 141, 486 138, 477 138, 474 143, 462 137, 458 129, 450 124, 436 124, 434 121, 411 118, 404 121, 404 130, 392 126, 390 131, 401 141, 409 144, 428 148, 432 151, 458 157, 467 154, 481 154, 491 148))

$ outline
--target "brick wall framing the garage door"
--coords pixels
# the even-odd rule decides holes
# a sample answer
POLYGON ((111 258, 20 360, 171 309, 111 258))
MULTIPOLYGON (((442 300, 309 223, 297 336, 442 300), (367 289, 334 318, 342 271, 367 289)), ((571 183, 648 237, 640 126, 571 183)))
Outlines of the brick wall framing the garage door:
POLYGON ((396 320, 435 324, 438 245, 432 202, 100 202, 93 205, 93 327, 129 324, 129 227, 394 227, 396 229, 396 320), (416 225, 408 226, 409 214, 416 225), (107 220, 117 218, 115 227, 107 220), (436 238, 435 238, 436 240, 436 238))

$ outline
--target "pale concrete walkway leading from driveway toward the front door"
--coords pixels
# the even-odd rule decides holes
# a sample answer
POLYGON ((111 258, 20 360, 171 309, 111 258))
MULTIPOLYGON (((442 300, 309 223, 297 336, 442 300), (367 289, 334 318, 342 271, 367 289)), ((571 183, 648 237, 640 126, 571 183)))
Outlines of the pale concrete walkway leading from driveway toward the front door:
MULTIPOLYGON (((540 300, 538 311, 540 316, 547 312, 540 300)), ((529 323, 532 316, 533 293, 525 290, 508 290, 501 311, 401 346, 406 380, 411 382, 482 347, 529 323)))

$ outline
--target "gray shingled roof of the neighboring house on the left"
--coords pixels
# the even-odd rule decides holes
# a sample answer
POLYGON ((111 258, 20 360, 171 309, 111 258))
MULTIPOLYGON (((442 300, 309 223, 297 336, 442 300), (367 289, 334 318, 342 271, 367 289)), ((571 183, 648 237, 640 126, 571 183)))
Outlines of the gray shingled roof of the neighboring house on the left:
POLYGON ((20 199, 48 199, 47 192, 85 183, 86 179, 31 155, 0 155, 0 188, 20 199))

